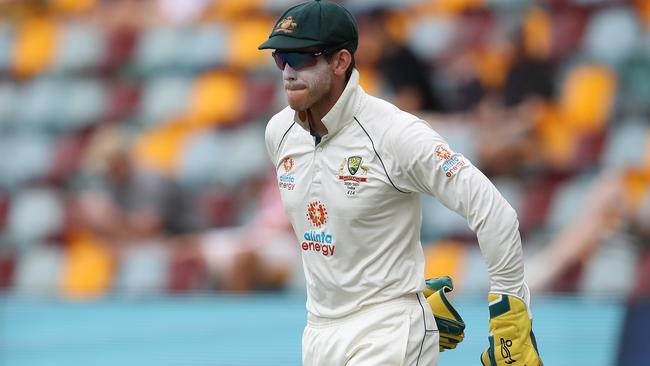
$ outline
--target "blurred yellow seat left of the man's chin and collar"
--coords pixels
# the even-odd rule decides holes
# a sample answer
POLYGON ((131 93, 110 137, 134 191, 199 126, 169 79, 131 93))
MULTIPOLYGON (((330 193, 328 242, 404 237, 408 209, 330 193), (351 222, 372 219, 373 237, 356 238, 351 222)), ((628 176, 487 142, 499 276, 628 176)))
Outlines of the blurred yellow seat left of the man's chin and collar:
POLYGON ((244 110, 246 86, 239 74, 209 72, 192 86, 187 115, 198 127, 236 121, 244 110))

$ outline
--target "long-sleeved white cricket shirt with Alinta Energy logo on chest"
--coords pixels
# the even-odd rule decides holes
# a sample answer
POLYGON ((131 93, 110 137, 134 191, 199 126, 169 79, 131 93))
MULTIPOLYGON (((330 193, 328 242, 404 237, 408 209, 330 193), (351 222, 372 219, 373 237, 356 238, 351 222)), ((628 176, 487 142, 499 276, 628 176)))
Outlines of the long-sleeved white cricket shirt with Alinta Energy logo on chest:
POLYGON ((419 193, 467 218, 491 291, 521 296, 514 210, 429 124, 366 94, 356 70, 318 145, 299 117, 289 107, 273 116, 266 145, 302 251, 310 313, 340 317, 424 289, 419 193))

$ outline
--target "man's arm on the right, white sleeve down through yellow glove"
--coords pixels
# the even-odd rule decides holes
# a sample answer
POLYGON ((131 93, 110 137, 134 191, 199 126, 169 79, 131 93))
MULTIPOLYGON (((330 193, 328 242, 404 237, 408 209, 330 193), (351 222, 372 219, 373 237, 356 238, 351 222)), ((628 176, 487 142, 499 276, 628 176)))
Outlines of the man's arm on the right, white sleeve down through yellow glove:
MULTIPOLYGON (((527 360, 522 364, 541 365, 530 326, 530 294, 524 283, 515 210, 478 168, 454 152, 428 124, 420 121, 409 127, 412 128, 403 130, 402 136, 393 140, 393 149, 401 162, 400 183, 409 190, 435 196, 467 219, 490 274, 491 354, 496 355, 488 357, 486 365, 506 365, 516 357, 527 360), (508 311, 493 314, 493 304, 506 302, 508 311), (499 351, 494 352, 494 347, 499 351)), ((504 305, 501 310, 505 308, 504 305)), ((489 350, 486 354, 489 356, 489 350)))

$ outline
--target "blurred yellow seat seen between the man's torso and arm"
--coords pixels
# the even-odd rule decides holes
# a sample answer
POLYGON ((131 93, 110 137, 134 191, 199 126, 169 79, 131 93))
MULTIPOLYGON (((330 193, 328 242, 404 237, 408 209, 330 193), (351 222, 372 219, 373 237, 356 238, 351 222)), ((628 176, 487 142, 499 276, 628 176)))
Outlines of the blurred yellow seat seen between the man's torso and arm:
POLYGON ((462 282, 467 249, 458 241, 441 240, 425 247, 425 278, 451 276, 456 285, 462 282))

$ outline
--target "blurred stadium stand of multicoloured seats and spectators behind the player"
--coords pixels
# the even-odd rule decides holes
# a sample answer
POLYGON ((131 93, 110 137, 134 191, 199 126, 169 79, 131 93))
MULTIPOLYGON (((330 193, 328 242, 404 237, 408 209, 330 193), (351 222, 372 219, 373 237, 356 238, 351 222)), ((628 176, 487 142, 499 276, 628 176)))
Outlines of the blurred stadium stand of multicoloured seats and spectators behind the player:
MULTIPOLYGON (((0 288, 302 289, 257 50, 291 3, 0 1, 0 288)), ((493 180, 535 291, 650 295, 649 1, 344 3, 362 86, 493 180)), ((487 289, 464 220, 423 202, 427 275, 487 289)))

